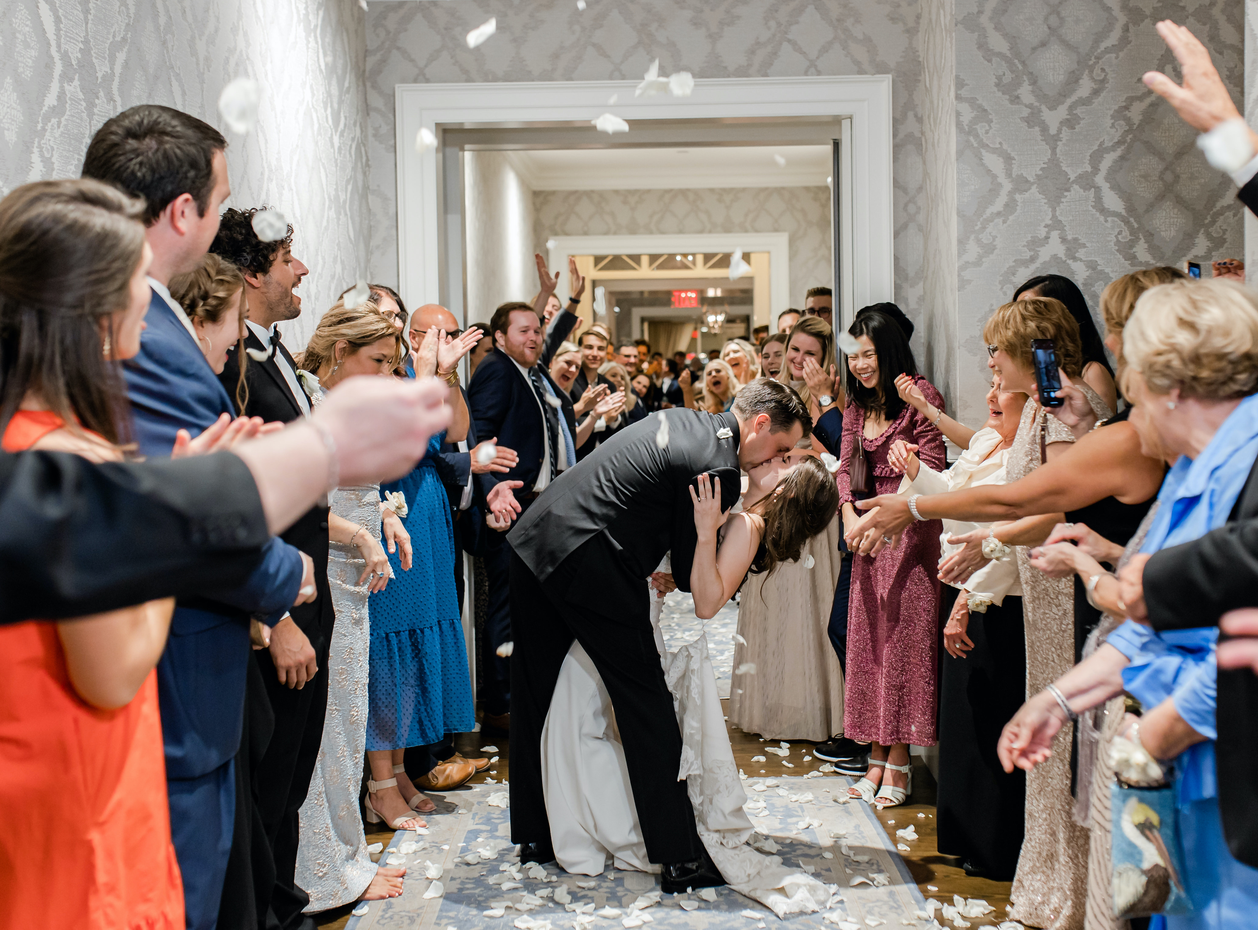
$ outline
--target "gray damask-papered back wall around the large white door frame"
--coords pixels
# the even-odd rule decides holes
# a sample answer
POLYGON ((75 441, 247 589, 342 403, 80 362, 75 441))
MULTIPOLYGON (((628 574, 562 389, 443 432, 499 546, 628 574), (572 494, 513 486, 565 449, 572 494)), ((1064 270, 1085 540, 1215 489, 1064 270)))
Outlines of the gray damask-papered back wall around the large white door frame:
MULTIPOLYGON (((892 74, 896 299, 916 317, 922 303, 917 16, 913 0, 589 0, 584 13, 572 0, 374 3, 367 14, 372 275, 391 280, 398 268, 395 84, 640 80, 657 57, 662 74, 684 69, 697 78, 892 74), (489 16, 498 20, 497 35, 469 50, 464 35, 489 16)), ((577 200, 555 197, 546 201, 577 200)), ((569 211, 567 231, 593 231, 576 227, 582 209, 569 211)), ((770 197, 755 209, 761 216, 780 210, 770 197)))

